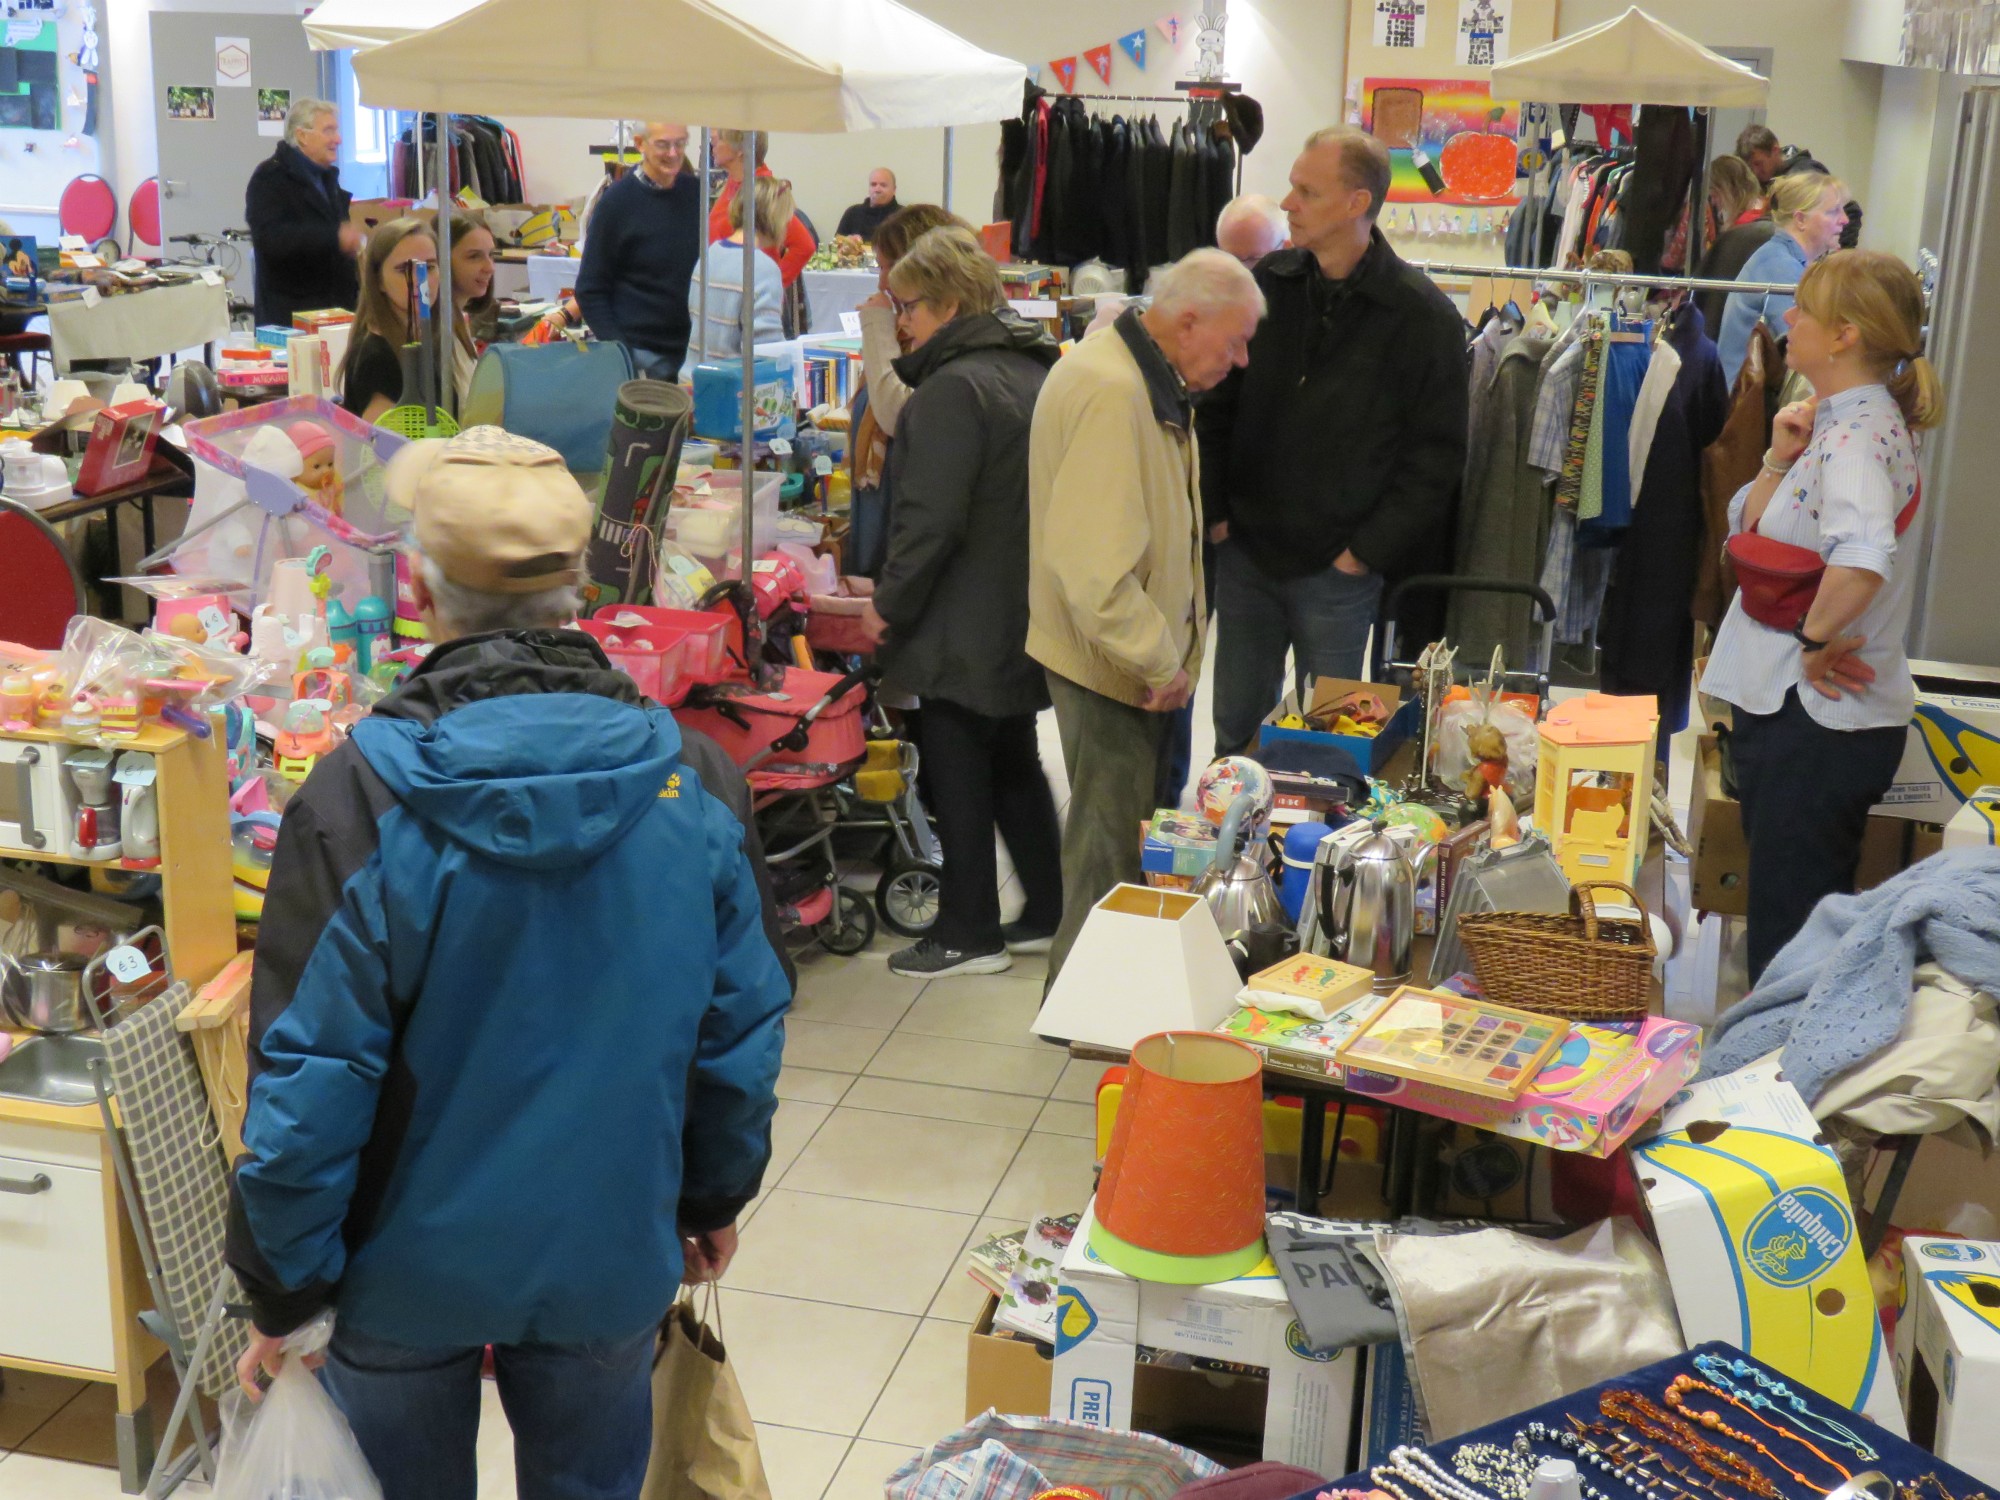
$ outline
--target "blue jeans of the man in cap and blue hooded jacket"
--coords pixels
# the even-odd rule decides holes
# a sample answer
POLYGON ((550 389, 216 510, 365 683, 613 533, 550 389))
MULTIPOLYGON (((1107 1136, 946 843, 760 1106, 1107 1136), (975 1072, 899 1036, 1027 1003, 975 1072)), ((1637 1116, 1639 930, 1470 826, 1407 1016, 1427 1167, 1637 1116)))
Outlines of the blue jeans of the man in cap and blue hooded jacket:
MULTIPOLYGON (((652 1454, 654 1334, 494 1348, 520 1500, 638 1500, 652 1454)), ((480 1356, 334 1324, 320 1382, 354 1428, 384 1500, 478 1500, 480 1356)))

